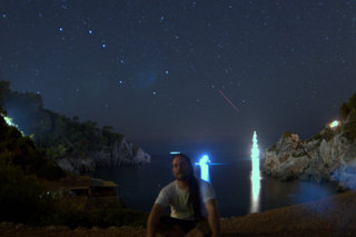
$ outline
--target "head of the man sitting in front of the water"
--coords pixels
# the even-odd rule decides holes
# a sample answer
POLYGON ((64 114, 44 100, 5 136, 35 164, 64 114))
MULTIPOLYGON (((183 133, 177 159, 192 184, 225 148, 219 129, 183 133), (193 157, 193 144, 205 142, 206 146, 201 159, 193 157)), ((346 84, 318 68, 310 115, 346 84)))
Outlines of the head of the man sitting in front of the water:
POLYGON ((175 156, 171 160, 171 171, 178 180, 187 180, 192 177, 194 169, 189 157, 182 154, 175 156))

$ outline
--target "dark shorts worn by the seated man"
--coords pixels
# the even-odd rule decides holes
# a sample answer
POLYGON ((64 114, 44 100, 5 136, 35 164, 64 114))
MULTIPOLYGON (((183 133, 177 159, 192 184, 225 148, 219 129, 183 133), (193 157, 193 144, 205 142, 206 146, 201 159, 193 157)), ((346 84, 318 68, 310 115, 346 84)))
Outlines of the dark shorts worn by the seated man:
POLYGON ((158 229, 160 233, 168 233, 174 226, 179 226, 184 233, 189 233, 191 229, 199 229, 204 236, 210 236, 211 230, 207 219, 201 220, 184 220, 169 216, 162 216, 159 221, 158 229))

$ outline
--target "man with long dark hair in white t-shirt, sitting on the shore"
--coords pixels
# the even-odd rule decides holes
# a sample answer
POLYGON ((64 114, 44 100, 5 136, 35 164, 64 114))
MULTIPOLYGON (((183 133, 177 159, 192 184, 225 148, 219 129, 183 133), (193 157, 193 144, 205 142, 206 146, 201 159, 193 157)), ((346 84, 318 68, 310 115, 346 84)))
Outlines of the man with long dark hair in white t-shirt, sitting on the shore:
POLYGON ((176 180, 160 190, 147 220, 147 237, 156 233, 177 237, 220 236, 212 186, 194 177, 194 168, 187 156, 175 156, 171 165, 176 180), (161 218, 168 205, 170 217, 161 218))

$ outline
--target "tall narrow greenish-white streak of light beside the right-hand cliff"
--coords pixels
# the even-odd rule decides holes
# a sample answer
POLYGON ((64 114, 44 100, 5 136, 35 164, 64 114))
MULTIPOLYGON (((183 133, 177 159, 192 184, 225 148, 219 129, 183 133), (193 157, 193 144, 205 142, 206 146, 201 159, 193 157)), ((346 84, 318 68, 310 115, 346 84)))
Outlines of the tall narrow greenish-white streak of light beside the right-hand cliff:
POLYGON ((251 148, 251 204, 249 213, 259 211, 259 190, 260 190, 260 170, 259 170, 259 150, 257 144, 257 134, 254 131, 253 137, 253 148, 251 148))

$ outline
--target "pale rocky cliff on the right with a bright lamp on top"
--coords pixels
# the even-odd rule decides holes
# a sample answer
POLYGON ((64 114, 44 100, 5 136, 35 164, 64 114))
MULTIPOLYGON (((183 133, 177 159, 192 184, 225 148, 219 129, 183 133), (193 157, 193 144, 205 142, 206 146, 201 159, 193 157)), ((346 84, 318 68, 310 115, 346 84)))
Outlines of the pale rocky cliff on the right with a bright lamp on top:
POLYGON ((334 121, 307 140, 285 132, 264 152, 264 172, 280 179, 336 181, 356 189, 356 93, 339 108, 334 121))

